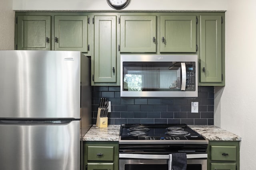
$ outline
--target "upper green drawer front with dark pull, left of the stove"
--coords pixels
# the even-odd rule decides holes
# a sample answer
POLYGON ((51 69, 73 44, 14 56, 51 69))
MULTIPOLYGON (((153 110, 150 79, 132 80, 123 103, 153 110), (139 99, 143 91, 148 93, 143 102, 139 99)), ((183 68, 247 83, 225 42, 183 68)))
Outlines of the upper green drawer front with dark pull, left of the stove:
POLYGON ((88 146, 88 160, 114 160, 114 147, 88 146))

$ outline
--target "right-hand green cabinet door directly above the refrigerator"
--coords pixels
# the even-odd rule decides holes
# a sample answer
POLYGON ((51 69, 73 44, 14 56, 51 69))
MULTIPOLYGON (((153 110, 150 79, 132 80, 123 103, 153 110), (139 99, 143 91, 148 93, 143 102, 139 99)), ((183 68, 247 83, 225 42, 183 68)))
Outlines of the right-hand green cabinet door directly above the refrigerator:
POLYGON ((54 50, 88 52, 87 16, 54 16, 54 50))

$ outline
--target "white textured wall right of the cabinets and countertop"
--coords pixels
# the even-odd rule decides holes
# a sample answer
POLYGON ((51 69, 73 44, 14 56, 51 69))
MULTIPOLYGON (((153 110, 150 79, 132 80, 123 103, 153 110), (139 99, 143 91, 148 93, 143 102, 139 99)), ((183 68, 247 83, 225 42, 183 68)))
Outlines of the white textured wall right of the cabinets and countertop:
POLYGON ((255 0, 228 0, 226 86, 215 95, 214 124, 242 137, 241 170, 256 170, 255 7, 255 0))

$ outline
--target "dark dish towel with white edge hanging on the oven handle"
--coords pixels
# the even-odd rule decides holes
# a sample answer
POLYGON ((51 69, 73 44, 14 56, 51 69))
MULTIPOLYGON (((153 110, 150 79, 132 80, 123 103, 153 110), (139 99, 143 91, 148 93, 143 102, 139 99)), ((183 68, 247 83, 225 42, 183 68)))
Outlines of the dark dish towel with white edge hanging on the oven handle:
POLYGON ((187 154, 173 153, 169 154, 169 169, 168 170, 186 170, 187 169, 187 154))

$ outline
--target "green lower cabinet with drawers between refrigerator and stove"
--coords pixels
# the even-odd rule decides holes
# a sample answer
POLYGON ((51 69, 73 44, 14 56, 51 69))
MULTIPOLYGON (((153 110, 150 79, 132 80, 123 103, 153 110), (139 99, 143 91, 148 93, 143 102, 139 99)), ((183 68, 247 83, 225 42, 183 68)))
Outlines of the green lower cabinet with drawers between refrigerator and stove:
POLYGON ((84 170, 118 170, 118 142, 84 142, 84 170))

